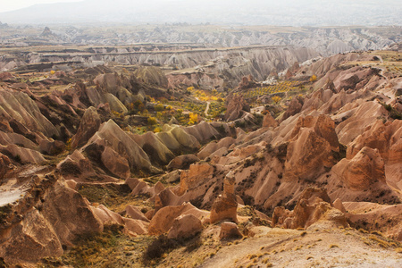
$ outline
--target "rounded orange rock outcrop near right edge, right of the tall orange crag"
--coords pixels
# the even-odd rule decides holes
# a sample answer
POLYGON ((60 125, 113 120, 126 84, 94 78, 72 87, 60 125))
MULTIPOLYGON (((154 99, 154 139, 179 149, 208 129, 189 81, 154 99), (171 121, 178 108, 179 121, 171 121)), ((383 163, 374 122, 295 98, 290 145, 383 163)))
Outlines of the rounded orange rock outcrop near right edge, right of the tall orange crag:
POLYGON ((364 190, 377 181, 385 183, 384 160, 378 149, 363 147, 346 165, 342 180, 354 190, 364 190))

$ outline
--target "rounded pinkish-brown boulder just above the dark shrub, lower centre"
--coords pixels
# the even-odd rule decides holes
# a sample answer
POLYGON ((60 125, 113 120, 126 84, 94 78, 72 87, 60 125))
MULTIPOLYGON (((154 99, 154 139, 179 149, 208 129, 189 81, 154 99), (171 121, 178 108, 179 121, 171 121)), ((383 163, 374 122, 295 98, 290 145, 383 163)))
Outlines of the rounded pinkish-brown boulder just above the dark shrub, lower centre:
POLYGON ((174 219, 168 239, 187 239, 203 230, 202 222, 192 214, 180 215, 174 219))

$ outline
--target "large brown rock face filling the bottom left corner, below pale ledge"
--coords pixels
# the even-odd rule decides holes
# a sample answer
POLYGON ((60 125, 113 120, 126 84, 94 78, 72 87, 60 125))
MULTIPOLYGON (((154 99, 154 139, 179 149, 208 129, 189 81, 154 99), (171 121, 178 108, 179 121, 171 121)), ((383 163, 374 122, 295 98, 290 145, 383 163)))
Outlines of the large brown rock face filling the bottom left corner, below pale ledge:
POLYGON ((0 235, 0 255, 8 264, 35 263, 42 257, 63 255, 62 245, 71 245, 83 234, 104 227, 88 201, 64 187, 54 173, 35 176, 35 184, 24 185, 29 194, 12 207, 12 215, 21 219, 7 217, 6 235, 0 235), (31 195, 33 191, 35 195, 31 195))

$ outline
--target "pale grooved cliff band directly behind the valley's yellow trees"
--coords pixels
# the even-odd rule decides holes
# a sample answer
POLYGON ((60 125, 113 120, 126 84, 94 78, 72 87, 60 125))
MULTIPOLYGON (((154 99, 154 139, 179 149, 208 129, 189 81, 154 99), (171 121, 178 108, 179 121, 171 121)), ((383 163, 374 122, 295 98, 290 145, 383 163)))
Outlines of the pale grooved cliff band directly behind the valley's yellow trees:
POLYGON ((319 56, 313 49, 294 46, 247 46, 241 48, 177 48, 167 46, 121 46, 62 49, 54 46, 39 48, 37 52, 25 49, 7 50, 0 59, 0 70, 72 71, 101 64, 154 65, 168 74, 169 88, 228 89, 235 88, 243 76, 252 75, 265 80, 271 71, 283 71, 293 63, 303 63, 319 56), (159 51, 147 51, 147 49, 159 51))

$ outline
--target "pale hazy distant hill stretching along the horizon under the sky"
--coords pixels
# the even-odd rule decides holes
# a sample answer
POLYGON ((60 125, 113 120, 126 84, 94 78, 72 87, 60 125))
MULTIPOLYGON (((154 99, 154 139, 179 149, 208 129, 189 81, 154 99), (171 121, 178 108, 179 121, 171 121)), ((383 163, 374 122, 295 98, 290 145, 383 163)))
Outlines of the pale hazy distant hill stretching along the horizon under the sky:
POLYGON ((0 13, 4 23, 215 23, 244 25, 402 25, 402 2, 262 0, 85 0, 0 13), (146 4, 145 4, 146 3, 146 4))

